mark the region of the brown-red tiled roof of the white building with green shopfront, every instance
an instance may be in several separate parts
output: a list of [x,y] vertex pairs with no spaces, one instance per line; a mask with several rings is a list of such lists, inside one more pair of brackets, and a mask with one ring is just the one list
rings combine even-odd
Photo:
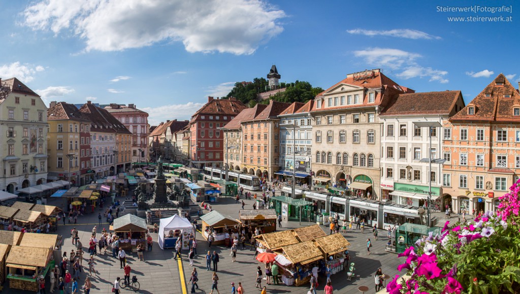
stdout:
[[404,93],[381,112],[384,115],[449,114],[462,96],[460,90],[440,92]]

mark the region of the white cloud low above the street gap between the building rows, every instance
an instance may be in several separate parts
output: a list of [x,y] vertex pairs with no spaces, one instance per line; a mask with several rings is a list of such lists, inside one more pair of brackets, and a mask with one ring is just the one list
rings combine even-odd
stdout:
[[161,122],[166,122],[168,119],[177,118],[179,121],[190,119],[191,115],[198,111],[204,103],[188,102],[186,104],[172,104],[158,107],[141,108],[142,111],[148,112],[148,123],[152,126],[157,126]]

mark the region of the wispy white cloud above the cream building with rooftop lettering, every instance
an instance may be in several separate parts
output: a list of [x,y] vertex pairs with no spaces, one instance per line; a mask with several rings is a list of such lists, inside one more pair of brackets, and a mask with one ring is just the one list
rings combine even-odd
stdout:
[[424,77],[429,78],[430,82],[437,81],[443,84],[449,82],[445,78],[447,71],[419,65],[416,60],[422,56],[417,53],[392,48],[368,48],[354,51],[354,56],[364,59],[369,65],[398,71],[397,76],[403,79]]

